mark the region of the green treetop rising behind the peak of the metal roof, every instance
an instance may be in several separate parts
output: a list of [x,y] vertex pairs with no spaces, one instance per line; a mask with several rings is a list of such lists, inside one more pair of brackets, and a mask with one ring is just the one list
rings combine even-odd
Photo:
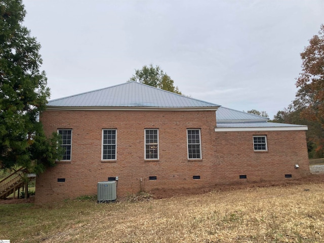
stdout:
[[174,86],[171,77],[159,66],[153,67],[152,64],[145,65],[142,69],[135,69],[135,74],[128,80],[128,82],[131,81],[182,95],[178,87]]

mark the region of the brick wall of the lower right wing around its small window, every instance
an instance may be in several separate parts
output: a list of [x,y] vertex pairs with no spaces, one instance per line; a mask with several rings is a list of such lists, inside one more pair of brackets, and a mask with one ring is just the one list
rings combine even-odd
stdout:
[[[253,151],[253,135],[267,136],[268,151]],[[309,174],[305,131],[218,132],[215,149],[218,182],[283,180],[288,174],[292,178]]]

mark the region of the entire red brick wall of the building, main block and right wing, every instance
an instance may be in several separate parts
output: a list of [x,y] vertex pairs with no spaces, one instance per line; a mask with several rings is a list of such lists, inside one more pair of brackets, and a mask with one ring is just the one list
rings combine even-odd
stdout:
[[[72,129],[72,158],[37,177],[36,204],[96,194],[97,182],[116,176],[117,196],[123,196],[141,186],[146,191],[200,187],[239,181],[239,175],[247,175],[244,180],[270,180],[309,172],[304,131],[216,133],[215,111],[47,110],[41,121],[48,135]],[[188,128],[200,129],[201,160],[187,159]],[[114,162],[101,160],[102,129],[117,130]],[[144,129],[158,129],[158,161],[144,159]],[[258,134],[267,135],[268,152],[253,151],[252,136]],[[192,179],[196,175],[200,180]]]

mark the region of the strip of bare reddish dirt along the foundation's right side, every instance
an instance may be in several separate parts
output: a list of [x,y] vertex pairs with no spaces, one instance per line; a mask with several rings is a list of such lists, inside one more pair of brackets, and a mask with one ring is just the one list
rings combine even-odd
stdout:
[[258,181],[258,182],[240,182],[231,184],[217,184],[214,186],[206,186],[200,188],[181,188],[181,189],[160,189],[156,188],[149,193],[153,195],[155,199],[171,198],[175,196],[188,196],[204,194],[211,191],[231,191],[239,189],[252,189],[257,187],[272,187],[272,186],[291,186],[291,185],[307,185],[324,183],[324,174],[310,174],[307,177],[299,179],[289,179],[281,181]]

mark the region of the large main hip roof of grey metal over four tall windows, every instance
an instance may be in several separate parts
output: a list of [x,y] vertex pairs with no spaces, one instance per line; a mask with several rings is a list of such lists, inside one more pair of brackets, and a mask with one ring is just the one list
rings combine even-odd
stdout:
[[114,108],[191,108],[217,110],[219,105],[193,99],[137,82],[50,100],[49,108],[114,107]]

